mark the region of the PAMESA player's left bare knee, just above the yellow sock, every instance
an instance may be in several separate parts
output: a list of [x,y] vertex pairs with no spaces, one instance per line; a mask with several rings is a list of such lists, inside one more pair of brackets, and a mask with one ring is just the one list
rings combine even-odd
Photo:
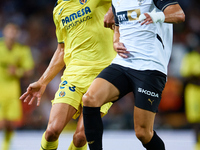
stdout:
[[56,141],[59,135],[60,133],[58,132],[58,130],[54,128],[47,128],[46,133],[45,133],[45,137],[48,142]]

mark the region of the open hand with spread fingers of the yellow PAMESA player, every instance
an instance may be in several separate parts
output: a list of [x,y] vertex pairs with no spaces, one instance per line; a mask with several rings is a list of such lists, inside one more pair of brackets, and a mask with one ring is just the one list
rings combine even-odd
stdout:
[[26,92],[20,97],[20,100],[28,102],[29,105],[32,105],[33,101],[37,99],[37,106],[39,106],[45,89],[46,85],[34,82],[28,86]]

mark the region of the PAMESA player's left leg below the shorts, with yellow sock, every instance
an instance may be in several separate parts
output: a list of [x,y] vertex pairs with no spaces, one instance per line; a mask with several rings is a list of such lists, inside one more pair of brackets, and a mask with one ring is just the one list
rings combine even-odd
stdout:
[[58,137],[76,111],[74,107],[66,103],[53,104],[47,129],[42,136],[40,150],[57,149]]

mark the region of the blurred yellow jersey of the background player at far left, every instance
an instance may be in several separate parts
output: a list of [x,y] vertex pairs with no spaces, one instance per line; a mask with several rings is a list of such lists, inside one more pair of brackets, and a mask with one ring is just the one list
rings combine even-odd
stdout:
[[[19,77],[9,74],[9,65],[16,66],[20,74],[33,68],[34,61],[30,48],[15,43],[11,50],[0,39],[0,101],[19,99],[21,94]],[[9,98],[9,99],[8,99]]]

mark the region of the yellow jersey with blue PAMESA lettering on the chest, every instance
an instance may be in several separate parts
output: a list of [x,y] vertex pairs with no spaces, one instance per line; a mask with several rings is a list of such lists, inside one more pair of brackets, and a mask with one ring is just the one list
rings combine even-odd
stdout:
[[65,44],[63,77],[74,76],[73,84],[84,84],[80,80],[100,73],[116,56],[113,31],[103,25],[110,6],[111,0],[57,1],[53,18],[58,43]]

